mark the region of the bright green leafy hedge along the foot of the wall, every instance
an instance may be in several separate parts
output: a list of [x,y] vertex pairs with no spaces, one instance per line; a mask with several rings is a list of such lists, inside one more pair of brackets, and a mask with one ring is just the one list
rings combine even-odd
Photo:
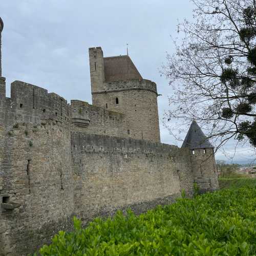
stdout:
[[41,255],[255,255],[256,188],[223,189],[60,231]]

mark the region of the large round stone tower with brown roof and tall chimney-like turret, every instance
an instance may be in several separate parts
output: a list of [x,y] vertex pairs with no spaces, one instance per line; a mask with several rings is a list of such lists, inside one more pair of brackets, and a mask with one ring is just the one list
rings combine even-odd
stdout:
[[156,83],[143,79],[128,55],[103,57],[89,48],[93,104],[126,116],[127,137],[160,142]]

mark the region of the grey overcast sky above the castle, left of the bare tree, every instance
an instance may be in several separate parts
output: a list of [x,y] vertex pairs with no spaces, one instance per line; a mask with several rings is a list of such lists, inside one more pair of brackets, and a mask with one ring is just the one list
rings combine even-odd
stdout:
[[[60,96],[91,103],[88,48],[101,46],[104,56],[129,55],[145,79],[157,83],[161,141],[174,140],[161,119],[172,93],[159,69],[166,52],[174,53],[178,20],[193,18],[189,0],[1,0],[3,76],[21,80]],[[185,136],[185,135],[184,135]],[[226,152],[232,156],[234,143]],[[234,162],[249,159],[247,147],[238,148]],[[217,153],[218,159],[226,159]]]

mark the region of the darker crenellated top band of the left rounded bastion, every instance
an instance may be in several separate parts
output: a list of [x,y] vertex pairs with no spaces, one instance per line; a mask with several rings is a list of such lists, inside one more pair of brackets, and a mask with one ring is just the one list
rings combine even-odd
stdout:
[[0,78],[0,122],[40,123],[41,119],[70,122],[70,104],[55,93],[22,81],[11,83],[11,97],[5,96],[5,78]]

